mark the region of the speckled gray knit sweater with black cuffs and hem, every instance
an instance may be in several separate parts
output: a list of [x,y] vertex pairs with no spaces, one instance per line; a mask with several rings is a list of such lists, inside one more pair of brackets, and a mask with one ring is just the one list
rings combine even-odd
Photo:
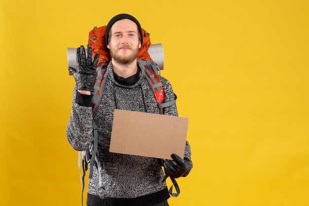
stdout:
[[[124,86],[115,81],[112,63],[107,68],[107,82],[94,117],[98,127],[99,159],[104,161],[101,175],[106,198],[99,198],[103,191],[98,187],[98,174],[94,170],[93,178],[88,182],[89,206],[152,206],[169,198],[166,183],[162,182],[164,174],[156,158],[109,152],[114,109],[159,114],[153,91],[145,78],[145,68],[139,63],[138,67],[139,79],[132,86]],[[169,81],[161,76],[159,78],[163,84],[165,102],[174,100]],[[69,143],[78,151],[86,150],[93,141],[92,107],[89,103],[91,96],[86,96],[80,95],[75,87],[67,127]],[[163,113],[178,116],[176,104],[165,107]],[[188,141],[185,158],[191,161]]]

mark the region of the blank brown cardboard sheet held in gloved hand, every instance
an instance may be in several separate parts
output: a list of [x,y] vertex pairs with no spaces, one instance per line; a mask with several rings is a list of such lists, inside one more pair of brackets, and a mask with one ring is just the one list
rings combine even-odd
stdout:
[[115,109],[110,152],[184,158],[189,118]]

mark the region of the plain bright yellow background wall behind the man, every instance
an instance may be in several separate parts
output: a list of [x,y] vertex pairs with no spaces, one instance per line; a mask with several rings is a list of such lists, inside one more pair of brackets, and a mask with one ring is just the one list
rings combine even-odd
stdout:
[[67,47],[119,13],[162,43],[193,171],[170,206],[309,205],[308,0],[1,0],[0,205],[77,206]]

